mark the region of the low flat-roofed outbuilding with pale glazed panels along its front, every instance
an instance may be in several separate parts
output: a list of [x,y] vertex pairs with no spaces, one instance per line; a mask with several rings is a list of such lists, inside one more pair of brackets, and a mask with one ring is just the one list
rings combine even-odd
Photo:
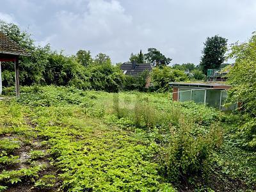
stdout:
[[207,104],[221,111],[234,110],[237,104],[228,107],[223,106],[227,99],[227,90],[230,88],[227,84],[218,83],[170,83],[173,88],[173,100],[180,102],[194,101]]

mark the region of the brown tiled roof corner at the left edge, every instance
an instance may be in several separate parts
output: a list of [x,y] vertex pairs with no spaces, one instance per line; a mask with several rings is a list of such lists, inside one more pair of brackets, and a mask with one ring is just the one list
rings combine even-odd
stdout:
[[19,47],[19,45],[11,40],[8,36],[0,32],[0,53],[27,56],[28,52]]

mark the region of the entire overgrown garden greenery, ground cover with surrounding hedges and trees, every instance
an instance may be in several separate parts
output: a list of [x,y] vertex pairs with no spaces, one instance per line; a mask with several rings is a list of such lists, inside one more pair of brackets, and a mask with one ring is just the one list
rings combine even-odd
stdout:
[[239,109],[220,112],[173,102],[168,84],[205,79],[214,42],[220,67],[220,36],[207,38],[200,66],[166,66],[172,59],[155,48],[132,54],[156,67],[131,77],[106,54],[65,56],[15,24],[0,21],[0,30],[31,54],[20,57],[18,98],[13,63],[1,63],[0,191],[256,190],[255,33],[232,45],[227,104]]

